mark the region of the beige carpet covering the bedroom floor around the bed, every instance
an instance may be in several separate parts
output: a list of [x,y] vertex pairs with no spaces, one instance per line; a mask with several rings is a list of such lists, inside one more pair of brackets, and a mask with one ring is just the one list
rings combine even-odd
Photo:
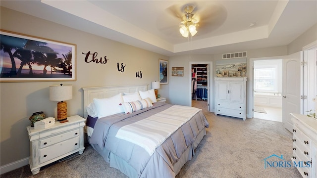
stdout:
[[[283,123],[262,119],[214,116],[204,111],[210,127],[193,159],[176,178],[301,178],[296,168],[266,168],[264,158],[292,157],[292,134]],[[45,166],[32,175],[29,166],[3,174],[1,178],[126,178],[103,160],[91,146],[82,155]]]

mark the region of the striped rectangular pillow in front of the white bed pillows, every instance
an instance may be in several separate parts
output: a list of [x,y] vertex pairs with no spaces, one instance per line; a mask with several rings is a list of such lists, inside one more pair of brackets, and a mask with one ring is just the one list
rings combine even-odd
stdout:
[[129,114],[141,109],[153,106],[150,98],[145,98],[142,100],[124,102],[122,104],[125,114]]

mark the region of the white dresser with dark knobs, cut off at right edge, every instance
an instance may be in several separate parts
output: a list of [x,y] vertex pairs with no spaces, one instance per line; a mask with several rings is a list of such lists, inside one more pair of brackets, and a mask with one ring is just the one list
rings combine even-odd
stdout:
[[317,121],[293,114],[293,157],[292,162],[303,178],[317,178]]

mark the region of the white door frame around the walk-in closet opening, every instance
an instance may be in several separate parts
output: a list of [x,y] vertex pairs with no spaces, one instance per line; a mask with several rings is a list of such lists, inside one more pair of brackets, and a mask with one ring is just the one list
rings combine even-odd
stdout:
[[[209,112],[213,112],[213,107],[212,107],[212,61],[190,61],[189,62],[189,91],[192,91],[192,64],[208,64],[208,104],[209,104]],[[192,93],[189,93],[189,106],[192,106]]]

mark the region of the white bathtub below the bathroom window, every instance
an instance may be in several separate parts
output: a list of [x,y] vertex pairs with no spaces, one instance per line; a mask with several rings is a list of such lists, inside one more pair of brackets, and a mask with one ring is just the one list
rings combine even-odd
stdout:
[[274,95],[274,93],[256,92],[254,94],[254,105],[282,107],[282,95]]

